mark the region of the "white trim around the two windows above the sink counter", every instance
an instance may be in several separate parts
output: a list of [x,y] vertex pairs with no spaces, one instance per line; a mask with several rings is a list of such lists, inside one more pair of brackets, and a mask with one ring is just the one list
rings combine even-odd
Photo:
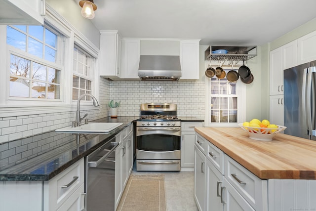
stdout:
[[[8,50],[7,48],[0,49],[0,70],[5,70],[5,77],[0,77],[0,118],[2,117],[12,117],[20,115],[32,115],[32,114],[46,114],[46,113],[56,113],[56,112],[70,112],[77,110],[77,100],[73,101],[71,98],[72,94],[72,76],[73,76],[73,48],[74,42],[81,46],[84,50],[90,53],[96,58],[94,67],[94,85],[91,89],[93,95],[99,99],[99,66],[98,66],[98,55],[99,48],[96,47],[92,42],[90,42],[84,35],[82,35],[76,28],[74,28],[68,21],[66,21],[62,16],[60,16],[56,11],[54,11],[49,5],[46,5],[46,16],[45,22],[58,31],[60,31],[65,37],[66,41],[64,58],[65,65],[64,69],[68,71],[64,74],[61,79],[61,86],[64,87],[62,90],[60,101],[50,101],[50,102],[40,102],[40,106],[26,105],[25,103],[9,103],[7,99],[8,93],[8,79],[9,71],[7,65],[9,65],[8,60]],[[7,46],[6,44],[6,25],[0,25],[0,46]],[[71,71],[69,71],[71,70]],[[3,72],[0,72],[3,74]],[[67,86],[66,86],[67,85]],[[5,90],[5,91],[3,91]],[[12,100],[11,100],[12,102]],[[80,110],[99,110],[100,107],[94,107],[90,102],[80,103]]]

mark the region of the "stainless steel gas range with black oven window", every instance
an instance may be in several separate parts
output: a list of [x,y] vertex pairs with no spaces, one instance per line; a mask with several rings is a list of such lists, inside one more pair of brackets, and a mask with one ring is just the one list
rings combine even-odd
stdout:
[[177,105],[146,103],[136,122],[136,169],[179,171],[181,167],[181,122]]

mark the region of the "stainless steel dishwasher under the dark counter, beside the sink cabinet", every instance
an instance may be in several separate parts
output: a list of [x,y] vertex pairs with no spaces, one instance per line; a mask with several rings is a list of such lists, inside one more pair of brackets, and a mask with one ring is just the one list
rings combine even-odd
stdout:
[[115,137],[86,157],[87,211],[115,210]]

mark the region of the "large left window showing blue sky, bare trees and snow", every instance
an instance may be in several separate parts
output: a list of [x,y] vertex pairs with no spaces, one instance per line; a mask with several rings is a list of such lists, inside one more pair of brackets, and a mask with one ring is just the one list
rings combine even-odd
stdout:
[[60,99],[62,66],[57,64],[60,35],[45,26],[7,26],[10,54],[9,97]]

